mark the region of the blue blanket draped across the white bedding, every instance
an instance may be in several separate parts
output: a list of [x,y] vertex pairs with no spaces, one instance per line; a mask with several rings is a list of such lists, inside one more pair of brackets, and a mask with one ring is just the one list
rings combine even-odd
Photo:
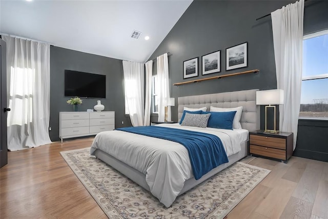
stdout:
[[213,134],[158,126],[127,127],[116,130],[162,138],[185,146],[196,180],[213,168],[229,162],[220,138]]

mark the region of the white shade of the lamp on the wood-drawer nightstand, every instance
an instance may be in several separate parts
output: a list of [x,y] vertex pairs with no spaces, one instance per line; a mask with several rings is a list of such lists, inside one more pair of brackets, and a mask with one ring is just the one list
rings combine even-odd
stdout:
[[260,90],[256,91],[256,105],[283,104],[283,90]]

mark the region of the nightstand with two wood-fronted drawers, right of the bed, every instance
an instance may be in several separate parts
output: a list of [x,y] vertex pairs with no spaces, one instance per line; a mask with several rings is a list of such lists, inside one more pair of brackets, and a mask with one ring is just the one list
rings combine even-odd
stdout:
[[293,154],[293,133],[250,132],[250,154],[276,158],[287,163]]

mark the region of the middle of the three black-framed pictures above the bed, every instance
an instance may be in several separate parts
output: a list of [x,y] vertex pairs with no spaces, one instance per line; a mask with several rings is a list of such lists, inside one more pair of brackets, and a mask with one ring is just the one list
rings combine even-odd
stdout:
[[221,71],[221,50],[201,56],[201,74],[211,74]]

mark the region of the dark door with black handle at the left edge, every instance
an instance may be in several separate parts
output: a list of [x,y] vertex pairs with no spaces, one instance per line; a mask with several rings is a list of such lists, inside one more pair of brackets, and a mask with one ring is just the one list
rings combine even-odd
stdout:
[[0,39],[0,168],[8,163],[6,43]]

